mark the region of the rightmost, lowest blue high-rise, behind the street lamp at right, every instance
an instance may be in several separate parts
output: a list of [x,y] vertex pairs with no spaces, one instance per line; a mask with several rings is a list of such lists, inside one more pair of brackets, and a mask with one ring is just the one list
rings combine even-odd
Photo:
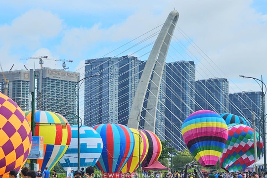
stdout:
[[[229,94],[229,111],[231,114],[242,116],[252,123],[252,111],[255,111],[255,119],[259,121],[262,118],[262,91],[237,92]],[[265,108],[265,107],[264,107]],[[256,128],[259,128],[259,122],[256,122]]]

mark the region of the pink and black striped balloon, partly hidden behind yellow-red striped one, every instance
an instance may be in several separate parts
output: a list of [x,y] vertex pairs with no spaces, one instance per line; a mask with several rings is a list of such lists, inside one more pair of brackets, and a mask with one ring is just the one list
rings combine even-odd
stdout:
[[151,166],[155,163],[161,154],[162,144],[159,137],[151,131],[143,130],[148,139],[148,152],[142,162],[142,167]]

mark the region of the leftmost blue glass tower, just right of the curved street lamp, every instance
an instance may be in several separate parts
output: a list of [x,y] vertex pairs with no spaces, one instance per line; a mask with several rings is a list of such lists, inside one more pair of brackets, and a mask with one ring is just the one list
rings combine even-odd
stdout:
[[118,58],[105,57],[86,60],[85,116],[84,125],[94,126],[105,123],[118,123]]

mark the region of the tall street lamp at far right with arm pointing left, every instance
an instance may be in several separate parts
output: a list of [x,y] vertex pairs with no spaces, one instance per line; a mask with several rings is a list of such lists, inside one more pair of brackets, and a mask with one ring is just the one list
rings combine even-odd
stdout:
[[[265,140],[265,114],[264,114],[264,96],[266,95],[266,91],[267,91],[267,87],[266,87],[266,85],[265,85],[265,83],[263,82],[263,76],[262,76],[262,80],[260,80],[260,79],[257,79],[257,78],[254,78],[254,77],[247,77],[247,76],[243,76],[243,75],[240,75],[239,77],[243,77],[243,78],[250,78],[250,79],[254,79],[258,84],[259,84],[259,82],[258,81],[260,81],[261,83],[262,83],[262,85],[260,85],[260,87],[261,87],[261,89],[262,89],[262,105],[263,105],[263,107],[262,107],[262,113],[263,113],[263,117],[262,117],[262,119],[263,119],[263,143],[264,143],[264,170],[266,171],[266,140]],[[265,92],[264,92],[264,89],[263,89],[263,86],[265,86]]]

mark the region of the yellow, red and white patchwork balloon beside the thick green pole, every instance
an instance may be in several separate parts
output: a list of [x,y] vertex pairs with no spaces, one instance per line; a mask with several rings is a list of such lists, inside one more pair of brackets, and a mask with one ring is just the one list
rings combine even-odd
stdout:
[[[31,121],[31,111],[25,114]],[[42,172],[45,167],[50,171],[69,147],[71,128],[63,116],[50,111],[36,111],[35,122],[35,135],[44,137],[44,159],[38,159],[37,163]]]

